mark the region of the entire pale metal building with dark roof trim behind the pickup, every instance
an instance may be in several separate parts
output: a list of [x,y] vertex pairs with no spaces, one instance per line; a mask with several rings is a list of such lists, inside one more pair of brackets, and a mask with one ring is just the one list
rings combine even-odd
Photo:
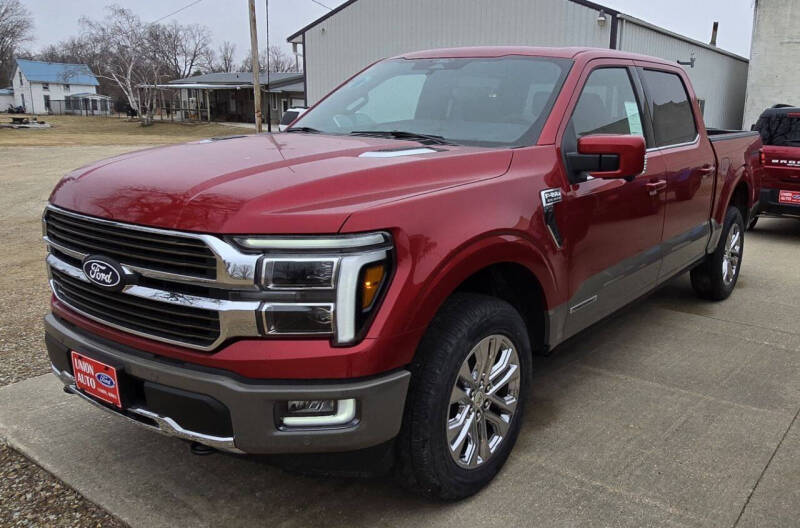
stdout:
[[706,124],[742,122],[745,57],[585,0],[349,0],[288,41],[302,45],[307,104],[370,63],[409,51],[594,46],[687,63]]

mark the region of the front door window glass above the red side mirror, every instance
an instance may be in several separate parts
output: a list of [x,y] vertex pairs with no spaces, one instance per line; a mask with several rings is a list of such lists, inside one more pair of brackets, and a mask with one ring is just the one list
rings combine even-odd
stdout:
[[594,70],[570,120],[575,136],[637,134],[642,131],[639,103],[626,68]]

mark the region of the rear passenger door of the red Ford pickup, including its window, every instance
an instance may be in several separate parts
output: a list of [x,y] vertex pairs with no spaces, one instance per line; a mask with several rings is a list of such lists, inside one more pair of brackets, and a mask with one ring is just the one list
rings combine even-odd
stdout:
[[638,68],[653,127],[653,146],[666,168],[666,216],[659,280],[682,271],[705,255],[711,234],[716,157],[711,142],[701,134],[685,74],[675,67]]

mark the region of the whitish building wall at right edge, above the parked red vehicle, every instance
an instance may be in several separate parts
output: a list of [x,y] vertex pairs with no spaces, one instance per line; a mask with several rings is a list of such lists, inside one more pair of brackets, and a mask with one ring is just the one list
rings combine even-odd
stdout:
[[775,104],[800,106],[800,2],[758,0],[744,128]]

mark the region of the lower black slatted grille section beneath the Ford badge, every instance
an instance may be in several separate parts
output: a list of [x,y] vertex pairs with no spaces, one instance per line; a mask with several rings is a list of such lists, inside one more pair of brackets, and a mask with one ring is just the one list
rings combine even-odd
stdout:
[[56,297],[80,313],[114,326],[198,347],[220,336],[219,312],[100,290],[53,268],[50,277]]

